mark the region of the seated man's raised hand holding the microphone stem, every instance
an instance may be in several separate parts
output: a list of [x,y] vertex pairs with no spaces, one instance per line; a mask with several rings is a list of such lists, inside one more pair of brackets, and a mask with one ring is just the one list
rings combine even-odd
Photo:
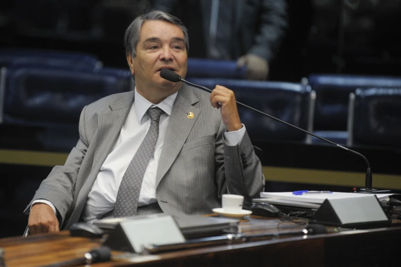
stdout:
[[210,94],[210,102],[213,107],[221,108],[221,118],[228,131],[236,131],[241,127],[237,103],[234,92],[224,86],[216,85]]

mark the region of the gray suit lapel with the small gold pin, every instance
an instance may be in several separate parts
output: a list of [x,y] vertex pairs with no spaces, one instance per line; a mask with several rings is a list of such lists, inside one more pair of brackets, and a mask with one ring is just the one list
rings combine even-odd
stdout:
[[[201,110],[193,104],[199,100],[193,94],[192,88],[183,84],[175,99],[170,121],[168,123],[166,137],[164,139],[162,153],[160,155],[157,172],[156,187],[163,176],[171,167],[175,158],[181,151],[187,137],[195,124]],[[188,118],[188,113],[193,113],[193,118]]]

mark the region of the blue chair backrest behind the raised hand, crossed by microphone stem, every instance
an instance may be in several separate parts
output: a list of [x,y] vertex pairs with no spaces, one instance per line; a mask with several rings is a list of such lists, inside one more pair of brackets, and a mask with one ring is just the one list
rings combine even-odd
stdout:
[[[230,88],[237,101],[306,129],[310,87],[308,85],[231,79],[190,78],[188,81],[213,90],[216,84]],[[252,140],[304,141],[305,133],[237,105],[241,122]]]

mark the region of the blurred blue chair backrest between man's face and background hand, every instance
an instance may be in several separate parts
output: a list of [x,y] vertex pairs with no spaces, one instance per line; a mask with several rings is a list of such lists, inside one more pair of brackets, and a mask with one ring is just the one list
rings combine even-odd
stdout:
[[244,79],[246,68],[237,68],[235,61],[188,58],[187,78]]

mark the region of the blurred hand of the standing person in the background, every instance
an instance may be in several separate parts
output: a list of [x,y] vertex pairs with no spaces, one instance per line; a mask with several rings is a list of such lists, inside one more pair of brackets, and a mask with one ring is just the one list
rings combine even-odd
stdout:
[[247,66],[247,79],[249,80],[266,80],[269,74],[269,63],[264,58],[257,55],[246,54],[238,58],[237,66]]

